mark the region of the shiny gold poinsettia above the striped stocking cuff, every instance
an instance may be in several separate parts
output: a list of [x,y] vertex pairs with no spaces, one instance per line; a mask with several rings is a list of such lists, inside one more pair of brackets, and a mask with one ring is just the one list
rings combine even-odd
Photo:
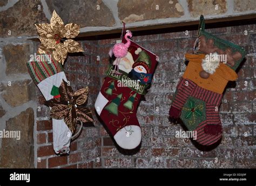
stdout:
[[[40,54],[52,53],[53,59],[61,62],[62,65],[68,53],[84,52],[79,43],[71,38],[77,37],[80,26],[69,23],[64,26],[62,19],[53,11],[50,24],[35,24],[41,45],[38,52]],[[62,43],[61,39],[66,38]]]

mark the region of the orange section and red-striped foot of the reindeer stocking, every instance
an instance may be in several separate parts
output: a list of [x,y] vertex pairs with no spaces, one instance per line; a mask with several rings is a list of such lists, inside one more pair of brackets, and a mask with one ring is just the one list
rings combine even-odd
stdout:
[[190,131],[196,131],[196,141],[212,145],[221,138],[219,105],[228,81],[237,79],[235,71],[218,63],[214,73],[203,78],[205,54],[186,54],[190,62],[181,77],[170,108],[170,117],[180,117]]

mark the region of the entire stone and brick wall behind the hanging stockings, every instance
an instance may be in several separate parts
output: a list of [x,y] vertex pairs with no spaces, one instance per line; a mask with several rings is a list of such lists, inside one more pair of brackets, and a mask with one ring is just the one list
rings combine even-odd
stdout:
[[[21,131],[21,140],[0,138],[0,167],[256,167],[253,161],[256,27],[253,24],[208,30],[244,46],[247,51],[246,61],[238,73],[239,80],[229,83],[225,91],[221,104],[224,137],[212,151],[200,151],[190,140],[174,138],[174,131],[181,127],[167,117],[177,80],[185,70],[184,53],[191,50],[196,30],[185,34],[187,27],[183,27],[177,32],[165,30],[150,34],[149,31],[133,37],[134,41],[160,57],[146,101],[142,101],[138,108],[143,142],[140,151],[133,156],[119,152],[95,114],[95,126],[83,128],[79,138],[71,143],[70,155],[57,156],[52,148],[49,108],[43,105],[44,98],[25,66],[39,45],[39,42],[29,40],[37,35],[34,24],[49,23],[53,9],[65,23],[80,24],[83,27],[81,32],[89,32],[122,27],[122,20],[127,26],[136,27],[198,20],[201,13],[206,18],[250,15],[255,13],[255,1],[159,0],[146,1],[144,5],[142,1],[122,0],[63,2],[0,2],[0,130]],[[156,10],[157,5],[159,10]],[[218,5],[217,10],[215,5]],[[79,42],[85,50],[83,55],[69,55],[65,62],[65,73],[72,88],[77,90],[89,86],[87,105],[92,111],[110,64],[107,53],[118,37],[82,38]],[[159,112],[156,112],[157,106]]]

